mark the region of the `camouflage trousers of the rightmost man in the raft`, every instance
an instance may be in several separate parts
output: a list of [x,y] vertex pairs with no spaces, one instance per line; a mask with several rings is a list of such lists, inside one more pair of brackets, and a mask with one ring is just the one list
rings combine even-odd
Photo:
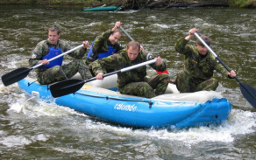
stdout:
[[209,80],[196,79],[184,70],[181,70],[177,73],[176,87],[181,93],[192,93],[202,90],[215,91],[218,87],[218,81],[215,78],[210,78]]

